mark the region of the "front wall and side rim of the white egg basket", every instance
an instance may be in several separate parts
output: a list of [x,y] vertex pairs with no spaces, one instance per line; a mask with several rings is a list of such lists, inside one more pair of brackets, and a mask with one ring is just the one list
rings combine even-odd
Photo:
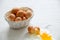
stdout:
[[31,18],[33,17],[33,14],[31,15],[31,17],[29,17],[28,19],[26,20],[23,20],[23,21],[19,21],[19,22],[14,22],[14,21],[10,21],[7,16],[9,14],[10,11],[8,11],[6,14],[5,14],[5,19],[6,21],[8,22],[10,28],[13,28],[13,29],[19,29],[19,28],[23,28],[23,27],[27,27],[30,23],[30,20]]

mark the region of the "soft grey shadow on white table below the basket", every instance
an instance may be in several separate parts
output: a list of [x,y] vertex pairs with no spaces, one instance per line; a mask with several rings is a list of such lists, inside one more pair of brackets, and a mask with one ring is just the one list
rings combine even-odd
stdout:
[[26,28],[20,29],[20,30],[13,30],[10,29],[8,32],[8,39],[7,40],[21,40],[23,37],[24,33],[26,31]]

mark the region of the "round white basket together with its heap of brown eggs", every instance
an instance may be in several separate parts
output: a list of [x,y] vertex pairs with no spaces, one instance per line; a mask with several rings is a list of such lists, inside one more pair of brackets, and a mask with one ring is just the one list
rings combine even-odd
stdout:
[[27,27],[33,17],[33,10],[28,7],[13,8],[5,14],[10,28],[20,29]]

